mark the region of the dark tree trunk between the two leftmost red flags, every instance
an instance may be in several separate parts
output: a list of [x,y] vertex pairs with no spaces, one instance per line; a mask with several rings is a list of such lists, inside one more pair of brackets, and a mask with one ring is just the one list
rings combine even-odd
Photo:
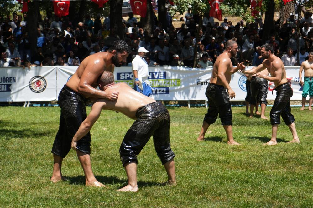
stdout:
[[29,2],[26,30],[28,33],[31,57],[34,57],[36,55],[38,14],[39,14],[39,1]]

